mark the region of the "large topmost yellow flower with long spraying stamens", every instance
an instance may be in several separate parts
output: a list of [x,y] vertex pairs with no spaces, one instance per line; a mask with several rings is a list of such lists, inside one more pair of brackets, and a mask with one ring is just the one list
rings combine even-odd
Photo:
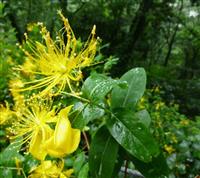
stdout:
[[[37,76],[33,81],[24,82],[20,91],[42,89],[40,96],[47,95],[57,87],[59,94],[67,85],[73,91],[71,82],[82,79],[81,69],[90,66],[93,62],[97,39],[95,38],[94,26],[88,41],[81,51],[77,51],[77,40],[69,25],[68,20],[59,11],[64,22],[64,31],[58,34],[53,41],[47,29],[41,25],[41,34],[45,44],[27,39],[26,43],[32,53],[25,51],[27,55],[24,65],[20,66],[22,72]],[[67,43],[64,42],[63,34],[66,33]],[[38,78],[39,77],[39,78]]]

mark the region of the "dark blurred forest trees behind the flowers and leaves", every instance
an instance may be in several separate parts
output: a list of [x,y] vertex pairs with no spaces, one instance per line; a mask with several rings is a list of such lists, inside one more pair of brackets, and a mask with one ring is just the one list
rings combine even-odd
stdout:
[[54,36],[55,29],[62,27],[56,16],[57,10],[62,9],[76,36],[84,40],[96,24],[102,44],[109,43],[102,53],[107,57],[113,54],[119,57],[111,72],[113,76],[121,76],[132,67],[143,66],[149,71],[150,85],[167,83],[169,87],[166,90],[172,88],[170,95],[179,93],[174,81],[185,82],[200,77],[200,3],[197,0],[2,2],[5,4],[3,11],[19,42],[23,41],[27,25],[38,21],[44,22]]

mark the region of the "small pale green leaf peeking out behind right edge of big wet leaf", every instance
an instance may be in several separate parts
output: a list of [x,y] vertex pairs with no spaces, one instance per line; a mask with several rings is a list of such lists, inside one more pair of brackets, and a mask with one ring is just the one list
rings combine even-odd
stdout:
[[138,120],[146,126],[146,128],[149,128],[151,123],[151,117],[146,109],[138,111],[135,113],[135,117],[138,118]]

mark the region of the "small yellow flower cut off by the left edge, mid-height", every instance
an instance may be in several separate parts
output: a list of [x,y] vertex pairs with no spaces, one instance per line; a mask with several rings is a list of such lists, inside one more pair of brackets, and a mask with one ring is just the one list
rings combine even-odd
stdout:
[[6,123],[13,115],[13,112],[9,109],[9,105],[6,102],[6,107],[0,104],[0,125]]

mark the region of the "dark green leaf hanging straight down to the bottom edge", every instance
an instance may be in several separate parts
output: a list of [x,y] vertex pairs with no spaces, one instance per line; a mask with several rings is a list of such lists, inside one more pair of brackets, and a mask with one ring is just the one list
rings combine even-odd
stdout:
[[111,178],[117,159],[118,144],[105,127],[95,134],[89,152],[89,167],[93,178]]

